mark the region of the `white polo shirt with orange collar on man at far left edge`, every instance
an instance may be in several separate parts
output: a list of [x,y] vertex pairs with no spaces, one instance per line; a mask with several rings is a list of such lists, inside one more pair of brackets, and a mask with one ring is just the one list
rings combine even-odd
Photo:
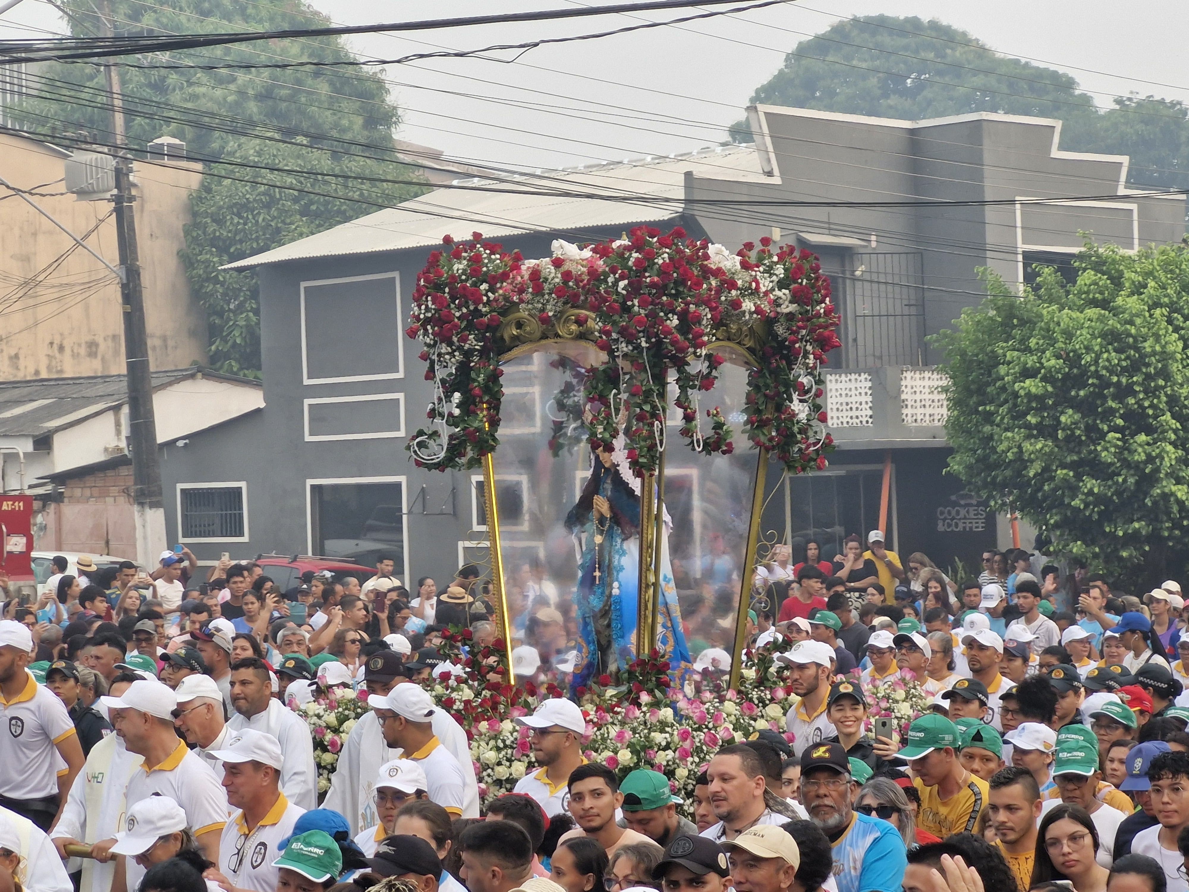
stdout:
[[0,696],[0,796],[44,799],[58,792],[57,745],[76,731],[62,701],[27,672],[25,679],[11,703]]

